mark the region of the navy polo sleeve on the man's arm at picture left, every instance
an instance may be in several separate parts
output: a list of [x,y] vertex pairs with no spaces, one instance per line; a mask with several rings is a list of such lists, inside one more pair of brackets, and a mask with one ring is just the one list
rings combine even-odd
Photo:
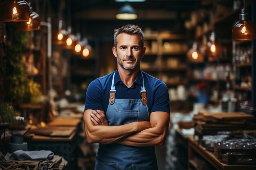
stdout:
[[98,79],[92,81],[86,91],[85,110],[103,110],[102,88]]

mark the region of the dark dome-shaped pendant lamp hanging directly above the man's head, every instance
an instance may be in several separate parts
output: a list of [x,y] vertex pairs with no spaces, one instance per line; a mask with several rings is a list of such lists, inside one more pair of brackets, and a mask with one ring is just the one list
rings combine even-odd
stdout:
[[116,15],[118,20],[135,20],[137,17],[135,9],[128,3],[124,4]]

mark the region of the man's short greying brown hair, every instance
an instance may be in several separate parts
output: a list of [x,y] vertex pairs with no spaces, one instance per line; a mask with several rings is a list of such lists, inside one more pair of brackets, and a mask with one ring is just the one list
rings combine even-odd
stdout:
[[117,36],[120,33],[126,33],[129,35],[135,35],[135,34],[139,35],[140,39],[141,39],[141,49],[143,48],[144,34],[139,26],[128,24],[128,25],[124,25],[124,26],[120,27],[119,29],[115,29],[114,30],[114,45],[115,45],[115,47],[117,47]]

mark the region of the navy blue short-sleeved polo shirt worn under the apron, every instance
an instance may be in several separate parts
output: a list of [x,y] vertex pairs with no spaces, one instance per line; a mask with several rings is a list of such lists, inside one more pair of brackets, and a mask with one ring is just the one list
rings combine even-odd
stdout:
[[[112,72],[103,77],[97,78],[92,81],[86,92],[85,99],[85,110],[103,110],[105,113],[109,104],[109,96],[112,83],[112,77],[115,72]],[[132,84],[130,88],[121,81],[118,70],[114,77],[114,86],[116,90],[116,99],[140,99],[141,98],[141,86],[143,85],[142,75],[144,78],[145,90],[147,91],[147,105],[148,112],[163,111],[170,113],[169,106],[169,95],[168,88],[162,82],[151,75],[143,71],[139,71],[136,81]]]

